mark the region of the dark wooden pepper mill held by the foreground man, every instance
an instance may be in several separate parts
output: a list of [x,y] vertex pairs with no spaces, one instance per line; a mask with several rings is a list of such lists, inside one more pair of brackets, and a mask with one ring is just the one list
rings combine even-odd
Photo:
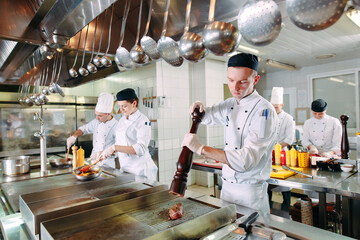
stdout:
[[[190,133],[196,133],[204,114],[205,112],[200,112],[198,108],[195,108],[192,113],[193,123]],[[187,176],[192,166],[192,156],[193,152],[188,147],[184,146],[178,159],[177,170],[169,190],[170,193],[184,196],[187,186]]]

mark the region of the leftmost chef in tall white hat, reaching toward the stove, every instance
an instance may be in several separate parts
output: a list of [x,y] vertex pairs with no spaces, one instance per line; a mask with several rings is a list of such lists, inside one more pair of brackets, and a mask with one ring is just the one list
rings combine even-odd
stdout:
[[[81,126],[66,141],[70,148],[76,139],[85,134],[93,134],[93,149],[89,160],[94,162],[100,158],[101,152],[115,143],[115,128],[117,121],[111,115],[113,109],[114,97],[110,93],[100,93],[96,107],[96,118],[89,123]],[[109,157],[99,162],[98,165],[115,168],[115,158]]]

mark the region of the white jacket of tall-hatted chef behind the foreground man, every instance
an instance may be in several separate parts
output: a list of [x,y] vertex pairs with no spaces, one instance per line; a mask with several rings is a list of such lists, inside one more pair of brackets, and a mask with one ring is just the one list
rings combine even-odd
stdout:
[[278,115],[278,124],[276,125],[276,140],[279,143],[286,142],[291,145],[295,138],[295,121],[294,118],[281,111]]

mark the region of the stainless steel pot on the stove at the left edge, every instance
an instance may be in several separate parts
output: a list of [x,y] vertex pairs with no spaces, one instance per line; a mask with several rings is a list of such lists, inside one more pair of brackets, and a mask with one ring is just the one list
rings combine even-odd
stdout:
[[1,159],[4,175],[13,176],[30,172],[30,157],[17,156]]

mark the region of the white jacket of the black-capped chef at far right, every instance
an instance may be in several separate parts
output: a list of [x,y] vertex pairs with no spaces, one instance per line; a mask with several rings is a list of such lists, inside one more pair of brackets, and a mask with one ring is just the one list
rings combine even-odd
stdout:
[[313,144],[319,153],[334,151],[339,155],[341,134],[340,121],[325,114],[322,119],[312,117],[305,121],[301,142],[306,147]]

